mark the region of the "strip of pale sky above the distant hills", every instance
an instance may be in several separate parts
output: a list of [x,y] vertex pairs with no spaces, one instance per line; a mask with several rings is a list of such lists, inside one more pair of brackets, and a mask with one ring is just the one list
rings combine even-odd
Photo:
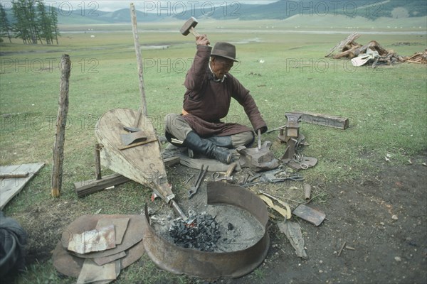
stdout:
[[[61,8],[65,11],[116,11],[119,9],[129,8],[130,4],[135,4],[139,11],[147,10],[156,13],[158,9],[201,9],[210,6],[230,6],[238,4],[270,4],[278,0],[135,0],[135,1],[111,1],[111,0],[44,0],[46,6]],[[1,0],[1,4],[6,7],[11,6],[11,0]]]

